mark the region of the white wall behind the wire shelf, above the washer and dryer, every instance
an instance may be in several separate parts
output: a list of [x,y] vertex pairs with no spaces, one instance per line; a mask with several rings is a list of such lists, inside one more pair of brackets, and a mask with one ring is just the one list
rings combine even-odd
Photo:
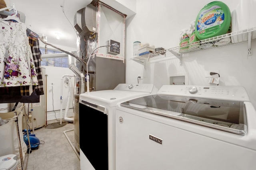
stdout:
[[[182,65],[179,59],[153,60],[144,65],[131,60],[133,42],[148,42],[170,49],[179,46],[180,30],[190,29],[199,11],[211,0],[137,0],[136,15],[126,20],[126,83],[153,83],[159,89],[170,84],[169,77],[186,75],[188,85],[210,85],[206,72],[218,70],[219,85],[244,86],[256,107],[256,90],[253,85],[256,73],[256,42],[252,41],[252,56],[247,57],[247,43],[185,54]],[[232,12],[240,0],[222,0]]]

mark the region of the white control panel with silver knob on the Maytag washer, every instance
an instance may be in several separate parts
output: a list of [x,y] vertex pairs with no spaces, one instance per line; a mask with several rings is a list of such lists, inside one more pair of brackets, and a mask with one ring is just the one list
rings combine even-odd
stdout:
[[157,94],[250,102],[243,86],[164,85]]

